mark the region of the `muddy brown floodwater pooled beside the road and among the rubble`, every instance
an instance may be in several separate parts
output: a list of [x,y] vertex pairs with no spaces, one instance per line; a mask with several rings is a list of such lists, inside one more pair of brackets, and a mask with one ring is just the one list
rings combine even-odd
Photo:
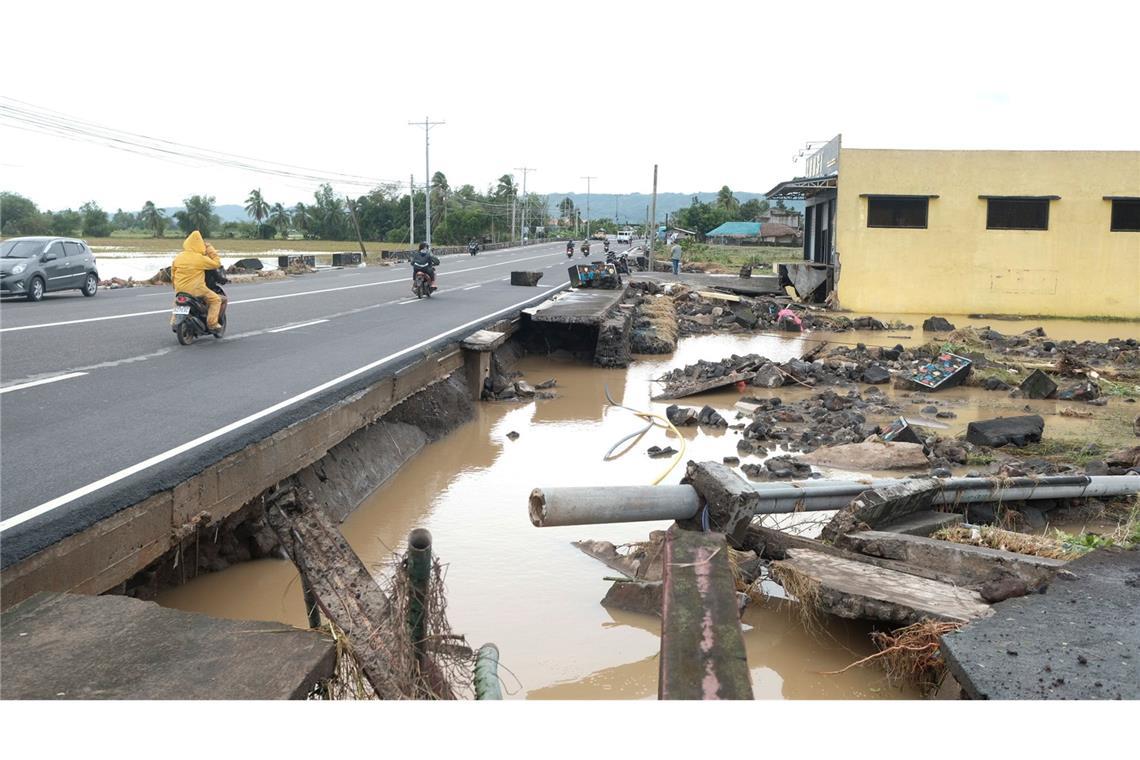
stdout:
[[[893,316],[887,314],[886,318]],[[902,317],[909,324],[921,318]],[[952,319],[962,324],[985,320]],[[990,322],[1004,333],[1042,325],[1051,336],[1068,337],[1073,320]],[[1129,337],[1135,325],[1080,322],[1073,337]],[[909,336],[902,341],[895,335]],[[670,357],[641,357],[628,370],[529,357],[518,369],[536,384],[557,379],[557,398],[529,403],[482,403],[475,418],[426,447],[414,460],[377,489],[342,525],[369,567],[380,569],[392,551],[402,550],[408,531],[426,528],[434,551],[448,564],[448,618],[453,630],[478,646],[494,641],[502,652],[504,690],[508,697],[597,700],[652,698],[657,695],[660,621],[657,618],[608,611],[600,604],[613,574],[570,545],[577,539],[613,544],[644,540],[667,523],[640,523],[537,529],[527,516],[527,497],[535,487],[650,483],[667,459],[650,459],[650,446],[671,444],[671,434],[653,430],[628,453],[612,461],[602,457],[627,433],[642,427],[629,411],[606,407],[603,389],[614,400],[662,412],[668,403],[649,401],[650,381],[674,367],[731,353],[762,353],[776,360],[800,356],[808,342],[831,337],[842,342],[919,344],[921,330],[844,333],[833,336],[705,336],[681,342]],[[806,392],[806,391],[804,391]],[[749,389],[760,395],[772,392]],[[775,394],[792,398],[783,387]],[[887,390],[887,393],[891,393]],[[736,392],[709,393],[687,400],[710,403],[727,418],[734,416]],[[955,389],[937,394],[959,415],[948,432],[964,430],[978,416],[1010,404],[1000,393]],[[899,399],[904,404],[909,399]],[[1080,435],[1088,420],[1058,417],[1057,402],[1029,402],[1047,417],[1047,431],[1064,424]],[[1064,422],[1061,422],[1064,420]],[[508,432],[518,432],[514,441]],[[684,459],[716,459],[735,455],[736,433],[686,428]],[[773,455],[779,451],[773,451]],[[746,459],[747,460],[747,459]],[[754,458],[759,461],[759,458]],[[829,471],[823,469],[824,473]],[[676,483],[683,464],[669,473]],[[258,561],[204,575],[166,591],[160,603],[223,618],[275,620],[306,626],[298,574],[285,561]],[[813,638],[790,605],[776,602],[750,607],[743,619],[752,686],[759,698],[913,698],[917,690],[888,685],[878,669],[834,671],[871,652],[870,628],[831,621]]]

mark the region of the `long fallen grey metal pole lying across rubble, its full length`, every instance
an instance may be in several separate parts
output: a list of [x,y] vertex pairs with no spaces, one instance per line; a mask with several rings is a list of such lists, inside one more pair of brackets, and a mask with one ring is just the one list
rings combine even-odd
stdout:
[[[899,482],[799,481],[751,485],[760,500],[758,515],[841,509],[871,489]],[[1033,499],[1082,499],[1140,493],[1140,475],[1048,475],[1043,477],[926,479],[939,489],[934,504],[977,504]],[[691,520],[701,508],[692,485],[608,485],[536,488],[530,492],[530,522],[536,528],[594,525],[657,520]]]

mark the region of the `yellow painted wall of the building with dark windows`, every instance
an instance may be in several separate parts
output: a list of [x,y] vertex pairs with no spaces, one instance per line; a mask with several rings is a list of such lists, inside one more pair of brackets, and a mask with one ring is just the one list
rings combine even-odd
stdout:
[[[872,195],[937,195],[927,229],[866,226]],[[1059,195],[1048,230],[987,230],[979,195]],[[864,150],[839,158],[839,302],[865,312],[1140,318],[1140,152]]]

